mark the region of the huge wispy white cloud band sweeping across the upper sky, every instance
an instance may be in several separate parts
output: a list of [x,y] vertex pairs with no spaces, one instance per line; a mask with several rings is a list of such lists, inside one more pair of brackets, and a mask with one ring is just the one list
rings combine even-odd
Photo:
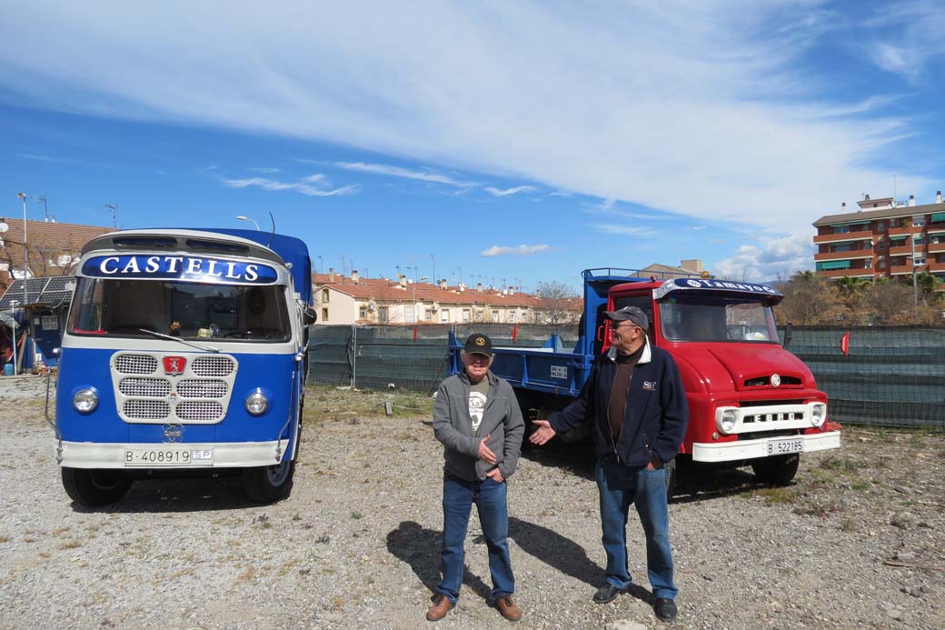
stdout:
[[[935,190],[923,176],[934,168],[887,150],[913,120],[843,114],[862,95],[844,103],[832,69],[807,64],[812,46],[833,42],[832,29],[861,10],[823,6],[277,3],[221,19],[182,0],[34,0],[4,12],[0,100],[316,140],[809,233],[822,208],[888,189],[890,172],[902,190]],[[905,9],[874,19],[929,22],[916,21],[897,48],[877,48],[876,62],[929,67],[945,45],[941,4],[895,7]],[[56,46],[36,44],[37,24]],[[339,167],[472,185],[435,171]]]

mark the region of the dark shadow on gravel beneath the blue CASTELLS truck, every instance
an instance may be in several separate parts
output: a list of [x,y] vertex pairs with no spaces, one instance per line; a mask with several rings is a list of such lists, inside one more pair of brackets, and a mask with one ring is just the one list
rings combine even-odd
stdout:
[[138,480],[131,484],[128,494],[115,503],[90,508],[73,502],[71,507],[80,514],[146,514],[214,512],[260,507],[260,504],[247,499],[239,476],[224,476]]

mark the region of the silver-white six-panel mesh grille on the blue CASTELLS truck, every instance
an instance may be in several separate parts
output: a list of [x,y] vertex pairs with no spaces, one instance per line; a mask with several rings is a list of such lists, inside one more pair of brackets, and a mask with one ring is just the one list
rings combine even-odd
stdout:
[[154,352],[121,352],[113,356],[115,408],[122,420],[189,424],[223,420],[239,367],[236,359],[226,355],[167,353],[186,361],[180,374],[170,375],[162,368],[164,356]]

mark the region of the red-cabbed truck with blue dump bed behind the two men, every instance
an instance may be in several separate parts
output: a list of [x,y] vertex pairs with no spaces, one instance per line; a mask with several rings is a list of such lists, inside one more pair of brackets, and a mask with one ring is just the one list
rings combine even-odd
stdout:
[[[807,366],[784,349],[772,307],[782,294],[767,285],[701,276],[656,280],[641,271],[583,272],[584,313],[574,350],[553,336],[542,348],[495,348],[492,371],[515,388],[525,417],[545,418],[580,392],[593,360],[610,347],[603,313],[639,306],[651,322],[650,343],[679,365],[689,428],[677,460],[750,465],[770,483],[786,484],[802,452],[838,448],[841,427],[828,420],[827,394]],[[790,326],[785,331],[789,341]],[[462,369],[451,340],[451,371]],[[586,437],[576,429],[561,439]],[[675,482],[671,466],[669,492]]]

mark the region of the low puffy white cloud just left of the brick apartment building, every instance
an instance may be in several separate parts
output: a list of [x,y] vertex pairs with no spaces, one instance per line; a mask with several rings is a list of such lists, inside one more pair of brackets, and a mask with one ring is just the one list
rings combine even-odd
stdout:
[[742,245],[710,271],[720,278],[746,281],[786,280],[796,271],[810,269],[814,261],[810,235],[762,238],[760,245]]

